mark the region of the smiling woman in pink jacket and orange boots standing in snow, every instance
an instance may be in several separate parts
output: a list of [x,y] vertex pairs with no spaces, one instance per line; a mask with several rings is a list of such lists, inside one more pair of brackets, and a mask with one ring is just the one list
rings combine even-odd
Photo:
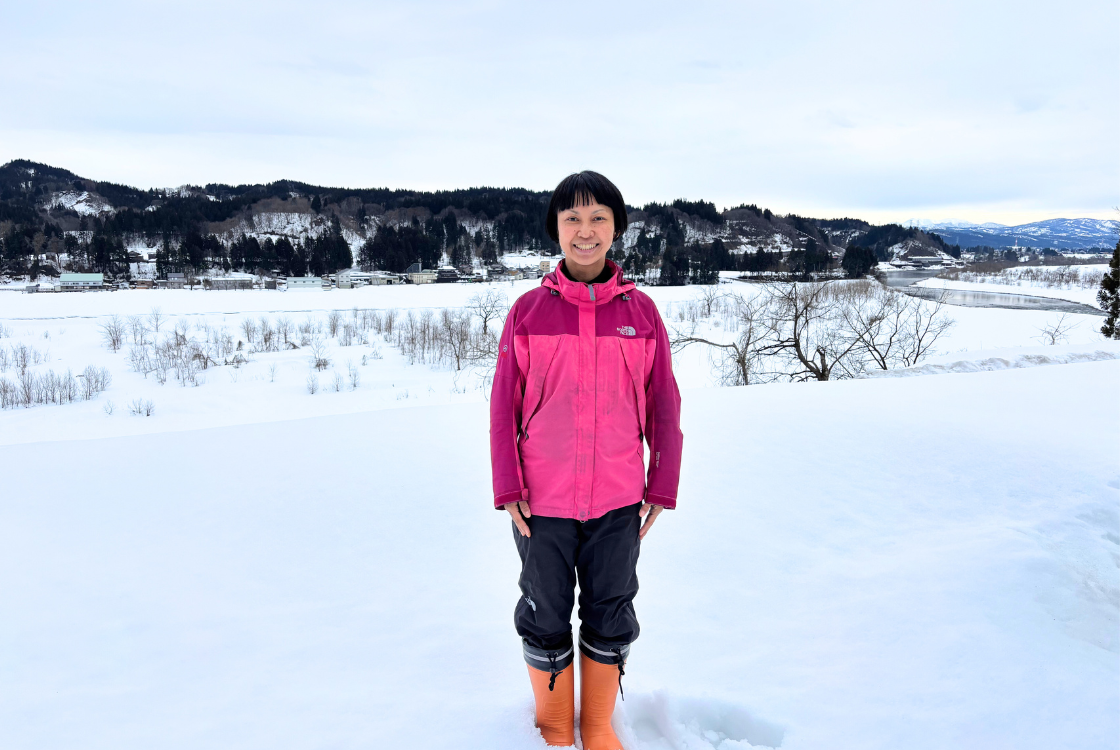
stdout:
[[656,307],[606,257],[626,229],[618,188],[597,172],[571,175],[552,193],[547,224],[564,257],[514,303],[498,347],[494,506],[513,517],[514,622],[541,734],[576,741],[578,580],[580,737],[585,750],[619,750],[610,716],[638,635],[635,566],[654,521],[676,505],[681,399]]

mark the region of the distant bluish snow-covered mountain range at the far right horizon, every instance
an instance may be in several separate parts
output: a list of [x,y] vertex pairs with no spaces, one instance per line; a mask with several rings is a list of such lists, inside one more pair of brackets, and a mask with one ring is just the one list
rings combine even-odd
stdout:
[[924,232],[936,232],[951,245],[962,249],[988,245],[1005,247],[1053,247],[1054,250],[1085,250],[1089,247],[1112,247],[1120,236],[1120,222],[1100,218],[1051,218],[1018,226],[1004,224],[973,224],[971,222],[927,222],[912,218],[903,226],[913,226]]

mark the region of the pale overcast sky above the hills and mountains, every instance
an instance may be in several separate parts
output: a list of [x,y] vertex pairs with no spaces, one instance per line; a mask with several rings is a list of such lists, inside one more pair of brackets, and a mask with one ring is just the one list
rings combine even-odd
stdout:
[[1117,0],[0,3],[0,162],[1118,218]]

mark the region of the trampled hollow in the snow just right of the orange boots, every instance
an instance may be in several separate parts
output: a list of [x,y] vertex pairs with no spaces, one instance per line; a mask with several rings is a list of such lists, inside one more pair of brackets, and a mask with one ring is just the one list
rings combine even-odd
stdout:
[[722,701],[664,691],[627,695],[615,707],[615,733],[626,750],[781,748],[785,729]]

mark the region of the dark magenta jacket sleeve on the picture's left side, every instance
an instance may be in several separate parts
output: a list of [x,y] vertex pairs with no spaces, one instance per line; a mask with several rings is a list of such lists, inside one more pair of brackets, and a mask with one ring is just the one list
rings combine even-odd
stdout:
[[495,508],[523,499],[522,490],[525,488],[517,448],[525,382],[517,366],[517,351],[513,340],[519,308],[514,302],[506,316],[491,388],[491,469],[494,475]]

